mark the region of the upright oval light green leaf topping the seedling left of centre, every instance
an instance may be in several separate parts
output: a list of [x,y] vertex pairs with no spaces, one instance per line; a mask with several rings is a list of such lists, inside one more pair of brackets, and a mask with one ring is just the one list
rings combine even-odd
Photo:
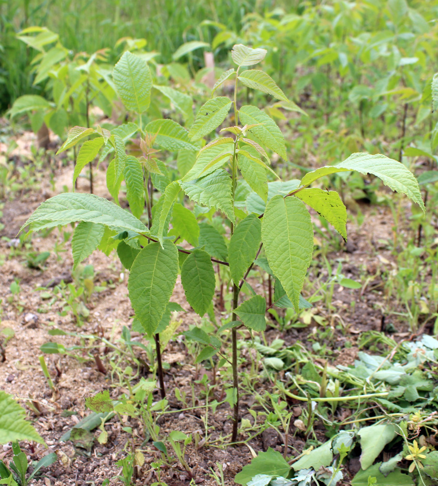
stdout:
[[143,113],[150,104],[152,77],[146,61],[125,52],[114,66],[113,80],[117,92],[128,110]]

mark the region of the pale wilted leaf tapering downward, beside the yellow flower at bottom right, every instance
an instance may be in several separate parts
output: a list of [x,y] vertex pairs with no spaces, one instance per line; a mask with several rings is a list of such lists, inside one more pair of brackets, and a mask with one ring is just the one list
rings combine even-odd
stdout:
[[362,449],[360,465],[362,469],[368,469],[384,447],[397,435],[397,428],[393,424],[370,425],[362,427],[357,434]]

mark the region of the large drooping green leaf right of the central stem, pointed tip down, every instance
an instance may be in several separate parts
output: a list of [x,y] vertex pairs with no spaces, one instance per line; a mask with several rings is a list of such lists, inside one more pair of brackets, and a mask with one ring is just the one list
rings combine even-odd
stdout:
[[304,204],[293,196],[274,196],[266,205],[261,240],[269,266],[295,312],[313,251],[313,228]]

